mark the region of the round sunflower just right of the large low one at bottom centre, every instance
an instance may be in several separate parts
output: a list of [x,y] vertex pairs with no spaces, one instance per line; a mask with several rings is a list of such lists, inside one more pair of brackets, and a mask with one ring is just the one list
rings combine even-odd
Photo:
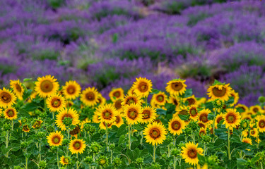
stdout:
[[170,122],[168,123],[168,130],[170,130],[170,133],[176,135],[176,134],[182,134],[182,130],[185,128],[185,123],[180,120],[179,118],[172,118]]

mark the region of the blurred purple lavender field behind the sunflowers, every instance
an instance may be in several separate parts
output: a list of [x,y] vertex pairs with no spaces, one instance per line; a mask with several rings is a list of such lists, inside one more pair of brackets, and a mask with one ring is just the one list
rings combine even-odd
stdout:
[[[228,82],[240,104],[265,84],[265,2],[225,0],[1,0],[0,86],[54,75],[108,98],[147,77],[165,91],[187,80],[197,97]],[[35,78],[35,79],[34,79]],[[29,84],[30,85],[30,84]]]

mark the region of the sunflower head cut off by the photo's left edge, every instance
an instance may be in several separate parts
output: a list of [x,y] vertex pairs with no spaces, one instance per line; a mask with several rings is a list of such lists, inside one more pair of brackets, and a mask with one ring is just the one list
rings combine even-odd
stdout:
[[0,107],[7,108],[15,104],[16,96],[9,89],[0,89]]

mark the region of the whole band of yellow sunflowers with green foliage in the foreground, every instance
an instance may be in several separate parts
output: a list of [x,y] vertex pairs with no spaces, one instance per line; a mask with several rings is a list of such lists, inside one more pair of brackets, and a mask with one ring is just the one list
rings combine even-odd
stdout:
[[196,98],[181,79],[162,92],[139,77],[107,100],[51,75],[11,80],[0,90],[2,168],[263,168],[265,98],[237,104],[217,80],[207,92]]

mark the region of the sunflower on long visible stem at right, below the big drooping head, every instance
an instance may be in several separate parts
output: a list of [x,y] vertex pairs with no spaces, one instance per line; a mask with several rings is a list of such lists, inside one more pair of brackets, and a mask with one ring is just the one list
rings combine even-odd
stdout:
[[230,130],[240,125],[241,115],[234,108],[227,108],[225,115],[223,115],[223,125]]

